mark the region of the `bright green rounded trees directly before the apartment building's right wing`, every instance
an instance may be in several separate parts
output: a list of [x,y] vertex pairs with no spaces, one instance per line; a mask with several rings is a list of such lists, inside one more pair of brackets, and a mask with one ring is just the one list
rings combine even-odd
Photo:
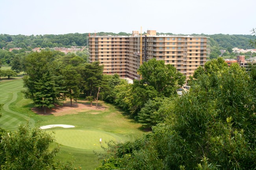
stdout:
[[121,83],[114,90],[115,104],[134,116],[137,116],[148,100],[177,96],[176,90],[186,79],[171,64],[165,65],[163,60],[155,58],[143,63],[138,72],[142,76],[141,80],[134,80],[133,84]]

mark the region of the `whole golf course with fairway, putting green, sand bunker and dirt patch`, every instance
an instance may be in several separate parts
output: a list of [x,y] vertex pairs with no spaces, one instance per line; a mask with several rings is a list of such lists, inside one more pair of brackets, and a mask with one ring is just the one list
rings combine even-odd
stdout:
[[[124,112],[114,105],[90,102],[78,99],[71,108],[69,100],[63,106],[47,110],[33,108],[30,99],[24,99],[22,94],[23,80],[21,77],[0,79],[0,103],[4,104],[0,118],[0,127],[15,131],[19,125],[28,123],[31,128],[40,128],[54,135],[56,143],[60,144],[61,152],[56,159],[71,161],[75,167],[93,170],[99,165],[98,158],[93,153],[104,152],[101,145],[113,140],[118,142],[134,141],[145,133],[141,124],[129,119]],[[102,138],[102,144],[100,144]]]

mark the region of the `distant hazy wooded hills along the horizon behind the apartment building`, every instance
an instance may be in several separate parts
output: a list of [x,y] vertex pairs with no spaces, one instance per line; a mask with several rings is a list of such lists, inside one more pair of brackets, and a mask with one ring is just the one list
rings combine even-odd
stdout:
[[[91,33],[94,35],[95,33]],[[157,33],[173,35],[172,33]],[[96,35],[131,35],[130,33],[105,33],[99,32]],[[192,36],[198,36],[197,34],[192,34]],[[64,35],[7,35],[0,34],[0,61],[3,65],[10,65],[15,55],[24,56],[29,51],[32,51],[33,48],[54,48],[54,47],[66,47],[70,48],[71,46],[81,47],[87,46],[87,38],[89,33],[70,33]],[[185,35],[184,35],[185,36]],[[250,49],[250,40],[253,38],[252,35],[224,35],[224,34],[215,34],[215,35],[204,35],[200,36],[210,37],[210,49],[211,55],[210,58],[217,58],[221,55],[220,50],[226,50],[224,56],[228,58],[236,57],[236,53],[232,54],[232,48],[237,47],[241,49]],[[9,51],[10,48],[21,48],[19,50],[14,49]],[[4,50],[5,49],[5,50]],[[244,54],[241,54],[244,55]],[[247,54],[248,57],[252,54]]]

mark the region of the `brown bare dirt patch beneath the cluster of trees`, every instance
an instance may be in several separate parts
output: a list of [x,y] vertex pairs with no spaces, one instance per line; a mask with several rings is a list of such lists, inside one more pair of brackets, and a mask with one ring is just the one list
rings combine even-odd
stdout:
[[[96,106],[90,106],[89,104],[72,104],[73,106],[70,107],[70,103],[64,103],[63,106],[56,105],[54,108],[48,109],[46,108],[46,113],[44,113],[43,108],[32,108],[32,111],[37,113],[38,115],[54,115],[54,116],[63,116],[63,115],[69,115],[69,114],[77,114],[79,112],[85,112],[89,110],[97,110],[102,111],[105,110],[106,107],[102,106],[101,104],[98,104],[98,107],[96,109]],[[91,112],[91,114],[97,114],[99,112]]]

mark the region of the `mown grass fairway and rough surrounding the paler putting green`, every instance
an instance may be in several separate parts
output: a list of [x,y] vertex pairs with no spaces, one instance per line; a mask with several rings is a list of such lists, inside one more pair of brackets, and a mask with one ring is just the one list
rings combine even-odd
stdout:
[[[31,111],[31,101],[24,99],[22,90],[22,79],[0,80],[0,103],[4,103],[0,126],[7,130],[17,130],[19,124],[28,120],[32,127],[48,124],[70,124],[76,126],[72,130],[93,130],[100,133],[116,135],[121,141],[134,140],[141,136],[141,125],[128,119],[124,113],[111,104],[100,102],[107,107],[104,111],[88,110],[73,115],[40,116]],[[56,127],[54,130],[63,130]],[[50,130],[47,130],[50,131]],[[97,135],[97,134],[96,134]],[[74,139],[76,140],[76,139]],[[82,166],[83,169],[93,170],[98,165],[98,160],[93,150],[61,146],[61,152],[56,159],[72,161],[74,166]]]

